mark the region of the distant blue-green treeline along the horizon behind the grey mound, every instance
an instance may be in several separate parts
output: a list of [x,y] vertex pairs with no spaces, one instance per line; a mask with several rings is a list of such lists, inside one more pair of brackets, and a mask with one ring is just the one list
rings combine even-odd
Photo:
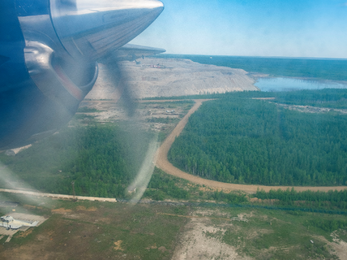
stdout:
[[347,59],[191,54],[159,54],[154,57],[190,59],[202,64],[239,68],[247,72],[269,74],[270,76],[347,80]]

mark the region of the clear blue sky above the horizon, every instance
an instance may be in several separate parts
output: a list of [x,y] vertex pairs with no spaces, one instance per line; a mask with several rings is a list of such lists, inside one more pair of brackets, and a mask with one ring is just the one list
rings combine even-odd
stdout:
[[130,43],[167,53],[347,58],[347,0],[163,0]]

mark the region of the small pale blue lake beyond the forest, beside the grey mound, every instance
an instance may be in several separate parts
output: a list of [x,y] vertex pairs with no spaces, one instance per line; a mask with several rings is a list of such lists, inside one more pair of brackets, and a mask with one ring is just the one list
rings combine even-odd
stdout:
[[314,81],[314,80],[302,80],[293,78],[259,78],[254,84],[261,91],[293,91],[302,89],[346,89],[346,84],[326,82],[326,81]]

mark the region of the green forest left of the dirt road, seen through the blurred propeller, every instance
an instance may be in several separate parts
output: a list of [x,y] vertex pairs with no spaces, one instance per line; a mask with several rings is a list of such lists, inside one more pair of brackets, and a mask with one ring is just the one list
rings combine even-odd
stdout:
[[[7,180],[42,192],[119,198],[137,174],[154,135],[114,124],[64,128],[16,156],[0,154]],[[17,176],[17,178],[16,178]],[[1,184],[10,188],[11,182]]]

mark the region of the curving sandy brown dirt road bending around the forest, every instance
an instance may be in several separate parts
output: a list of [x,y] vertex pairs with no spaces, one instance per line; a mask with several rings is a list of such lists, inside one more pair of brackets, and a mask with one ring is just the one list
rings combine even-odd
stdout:
[[[292,186],[263,186],[263,185],[243,185],[243,184],[232,184],[232,183],[224,183],[224,182],[219,182],[219,181],[212,181],[212,180],[207,180],[200,178],[198,176],[188,174],[184,171],[181,171],[180,169],[176,168],[173,166],[172,163],[169,162],[168,160],[168,152],[173,144],[173,141],[176,136],[178,136],[186,123],[188,122],[189,116],[194,113],[199,106],[208,100],[194,100],[195,104],[193,107],[189,110],[189,112],[182,118],[181,121],[177,124],[177,126],[173,129],[173,132],[168,136],[168,138],[164,141],[164,143],[161,145],[161,147],[158,150],[158,157],[157,157],[157,162],[156,166],[166,173],[169,173],[173,176],[186,179],[188,181],[205,185],[208,187],[212,188],[218,188],[218,189],[226,189],[226,190],[241,190],[249,193],[255,193],[257,189],[264,189],[266,192],[270,191],[271,189],[273,190],[286,190],[287,188],[291,189]],[[329,191],[329,190],[344,190],[347,189],[346,186],[335,186],[335,187],[307,187],[307,186],[294,186],[294,189],[296,191]]]

